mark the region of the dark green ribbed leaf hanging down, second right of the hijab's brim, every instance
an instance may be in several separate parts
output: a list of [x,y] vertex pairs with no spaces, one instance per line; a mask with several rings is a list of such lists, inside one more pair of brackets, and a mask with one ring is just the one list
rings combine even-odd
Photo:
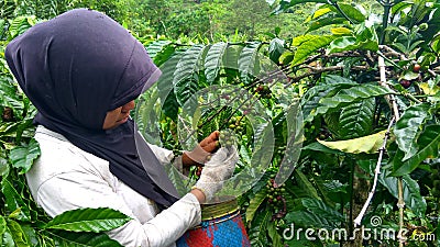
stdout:
[[183,105],[198,90],[198,74],[205,46],[195,45],[180,57],[174,71],[173,86],[177,102]]

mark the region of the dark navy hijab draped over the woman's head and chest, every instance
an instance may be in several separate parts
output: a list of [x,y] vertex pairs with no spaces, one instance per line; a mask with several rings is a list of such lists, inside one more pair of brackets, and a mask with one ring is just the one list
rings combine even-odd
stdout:
[[138,142],[143,160],[147,157],[152,167],[144,170],[132,120],[102,130],[107,112],[138,98],[160,72],[124,27],[100,12],[72,10],[10,42],[6,58],[38,110],[35,124],[108,160],[114,176],[160,205],[176,201],[177,192],[162,165],[144,142]]

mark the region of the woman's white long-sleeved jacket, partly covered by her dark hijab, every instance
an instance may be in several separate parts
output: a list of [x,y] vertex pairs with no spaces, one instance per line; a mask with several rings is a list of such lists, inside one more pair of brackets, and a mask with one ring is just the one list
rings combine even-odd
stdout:
[[[109,162],[79,149],[64,136],[38,126],[35,139],[41,157],[26,173],[38,205],[55,216],[78,207],[111,207],[131,216],[125,225],[110,231],[110,238],[123,246],[175,246],[188,228],[200,224],[200,204],[191,193],[169,209],[158,211],[155,202],[139,194],[109,170]],[[151,145],[161,162],[173,153]]]

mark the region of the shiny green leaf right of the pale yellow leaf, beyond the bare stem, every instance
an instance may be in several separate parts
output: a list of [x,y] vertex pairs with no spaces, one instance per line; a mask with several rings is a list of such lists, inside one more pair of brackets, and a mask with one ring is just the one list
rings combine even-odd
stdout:
[[400,150],[405,153],[403,161],[413,157],[419,149],[417,138],[424,130],[426,122],[431,119],[429,103],[421,103],[407,108],[396,122],[394,135]]

